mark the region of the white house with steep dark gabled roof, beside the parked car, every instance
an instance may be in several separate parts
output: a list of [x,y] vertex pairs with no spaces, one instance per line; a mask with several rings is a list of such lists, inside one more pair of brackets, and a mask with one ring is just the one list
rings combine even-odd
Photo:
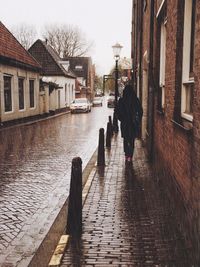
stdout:
[[46,41],[37,40],[29,52],[42,66],[43,80],[59,85],[57,90],[50,92],[50,111],[65,110],[75,99],[76,76],[69,70],[69,63],[62,60]]

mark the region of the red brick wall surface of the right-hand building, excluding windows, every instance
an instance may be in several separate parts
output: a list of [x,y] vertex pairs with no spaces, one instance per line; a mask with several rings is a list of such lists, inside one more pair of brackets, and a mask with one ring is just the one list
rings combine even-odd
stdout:
[[[155,105],[154,151],[155,171],[172,200],[172,209],[197,258],[199,247],[199,177],[200,177],[200,1],[196,7],[195,90],[193,131],[173,122],[175,104],[180,108],[182,29],[180,0],[167,0],[167,46],[165,76],[165,112]],[[177,9],[179,7],[179,9]],[[155,44],[156,46],[157,44]],[[156,53],[155,56],[158,56]],[[155,62],[158,62],[158,58]],[[155,69],[155,76],[158,74]],[[158,82],[158,80],[157,80]],[[156,96],[157,97],[157,96]],[[156,103],[157,99],[155,99]],[[196,177],[196,178],[195,178]],[[195,251],[196,250],[196,251]]]

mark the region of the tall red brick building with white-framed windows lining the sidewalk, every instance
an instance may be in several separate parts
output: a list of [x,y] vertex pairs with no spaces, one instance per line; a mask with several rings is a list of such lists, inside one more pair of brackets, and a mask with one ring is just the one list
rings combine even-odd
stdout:
[[198,265],[200,1],[133,0],[132,12],[132,79],[144,108],[142,139]]

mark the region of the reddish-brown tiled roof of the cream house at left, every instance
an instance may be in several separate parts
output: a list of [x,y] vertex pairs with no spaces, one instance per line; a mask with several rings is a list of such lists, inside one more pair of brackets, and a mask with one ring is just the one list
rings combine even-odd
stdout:
[[17,41],[11,32],[0,21],[0,56],[20,63],[41,68],[39,63]]

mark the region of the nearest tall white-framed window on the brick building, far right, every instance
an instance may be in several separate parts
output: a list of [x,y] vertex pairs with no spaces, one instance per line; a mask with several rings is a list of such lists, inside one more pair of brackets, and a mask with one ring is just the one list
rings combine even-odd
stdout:
[[195,0],[185,0],[181,116],[193,121]]

